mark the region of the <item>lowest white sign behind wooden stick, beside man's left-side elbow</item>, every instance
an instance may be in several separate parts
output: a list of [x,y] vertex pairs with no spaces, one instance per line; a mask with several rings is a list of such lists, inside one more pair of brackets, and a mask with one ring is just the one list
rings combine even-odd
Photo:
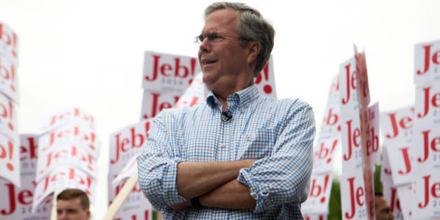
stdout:
[[[109,205],[116,198],[119,191],[123,188],[125,181],[119,181],[118,184],[111,184],[114,181],[116,174],[109,174]],[[132,192],[128,195],[127,199],[123,203],[121,209],[119,209],[114,219],[121,220],[132,220],[132,219],[142,219],[151,220],[152,219],[153,207],[149,200],[146,199],[144,193],[142,192],[139,184],[132,189]]]

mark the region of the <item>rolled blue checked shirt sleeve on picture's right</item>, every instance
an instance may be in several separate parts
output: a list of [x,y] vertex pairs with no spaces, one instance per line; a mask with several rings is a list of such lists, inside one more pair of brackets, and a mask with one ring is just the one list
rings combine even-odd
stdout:
[[299,205],[308,196],[315,138],[312,108],[296,102],[284,119],[272,155],[241,169],[237,178],[256,200],[254,212],[265,212],[283,203]]

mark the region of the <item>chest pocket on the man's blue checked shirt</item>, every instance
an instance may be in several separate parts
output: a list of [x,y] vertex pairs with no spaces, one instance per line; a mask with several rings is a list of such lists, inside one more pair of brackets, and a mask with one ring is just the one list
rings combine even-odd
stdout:
[[238,160],[270,157],[276,142],[275,130],[257,129],[242,135],[238,148]]

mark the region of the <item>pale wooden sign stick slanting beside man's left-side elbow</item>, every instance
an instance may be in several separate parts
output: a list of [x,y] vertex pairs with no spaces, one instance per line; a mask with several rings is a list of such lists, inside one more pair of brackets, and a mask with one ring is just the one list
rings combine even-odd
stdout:
[[121,188],[121,191],[118,193],[118,195],[116,195],[116,198],[113,200],[113,202],[111,202],[111,205],[107,210],[106,215],[104,216],[104,220],[111,220],[114,218],[114,216],[116,216],[119,209],[121,209],[122,205],[127,199],[128,194],[131,193],[131,191],[136,186],[136,184],[137,184],[137,175],[128,178],[124,186]]

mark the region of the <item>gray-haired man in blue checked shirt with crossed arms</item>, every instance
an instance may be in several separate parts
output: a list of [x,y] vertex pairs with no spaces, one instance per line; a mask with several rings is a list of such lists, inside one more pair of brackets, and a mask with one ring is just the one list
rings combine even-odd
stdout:
[[299,99],[254,84],[275,31],[254,8],[214,3],[196,37],[205,103],[154,118],[139,185],[163,219],[302,219],[315,121]]

